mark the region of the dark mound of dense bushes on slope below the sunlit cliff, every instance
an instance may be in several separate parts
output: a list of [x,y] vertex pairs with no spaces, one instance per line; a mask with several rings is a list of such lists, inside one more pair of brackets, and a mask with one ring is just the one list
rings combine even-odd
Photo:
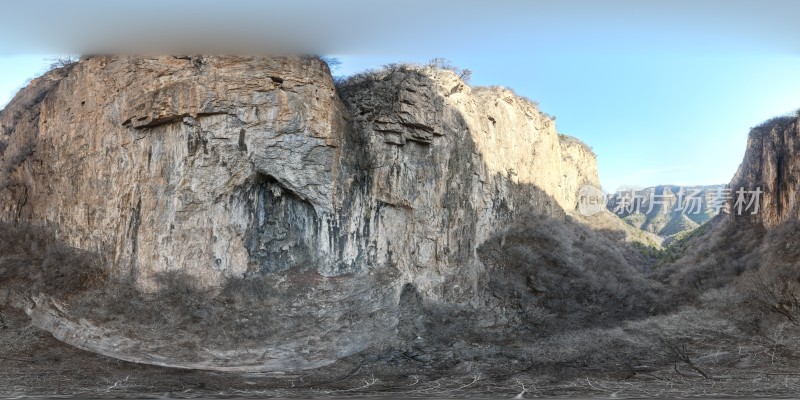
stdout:
[[534,331],[611,325],[654,313],[663,291],[618,243],[571,217],[528,216],[479,254],[492,308],[516,310]]

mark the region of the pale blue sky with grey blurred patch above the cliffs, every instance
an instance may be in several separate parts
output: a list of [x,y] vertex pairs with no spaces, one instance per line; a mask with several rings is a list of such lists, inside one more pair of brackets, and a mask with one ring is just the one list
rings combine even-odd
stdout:
[[[0,17],[0,105],[46,69],[52,56],[44,54],[277,48],[335,55],[335,75],[444,57],[471,69],[473,85],[507,86],[538,101],[560,132],[593,147],[607,190],[727,183],[749,128],[800,108],[797,1],[235,0],[225,10],[191,3],[192,15],[179,8],[189,3],[176,1],[153,2],[161,12],[148,29],[137,13],[150,8],[139,3],[40,3],[55,10],[12,5]],[[103,13],[127,18],[110,24]],[[51,17],[87,23],[48,36],[37,24]]]

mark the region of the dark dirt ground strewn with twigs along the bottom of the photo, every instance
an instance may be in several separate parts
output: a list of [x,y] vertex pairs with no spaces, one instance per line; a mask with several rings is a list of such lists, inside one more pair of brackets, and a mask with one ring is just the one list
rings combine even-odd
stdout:
[[711,379],[655,369],[613,375],[587,371],[585,376],[573,371],[565,378],[525,365],[475,372],[482,369],[480,360],[446,366],[408,352],[354,356],[294,374],[169,369],[78,350],[31,326],[20,311],[4,309],[2,315],[0,397],[6,398],[785,397],[800,393],[800,373],[791,368],[740,369]]

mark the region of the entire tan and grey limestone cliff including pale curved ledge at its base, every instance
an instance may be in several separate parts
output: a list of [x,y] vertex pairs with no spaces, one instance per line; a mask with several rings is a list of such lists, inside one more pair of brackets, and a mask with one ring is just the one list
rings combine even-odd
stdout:
[[3,220],[50,223],[143,291],[170,271],[211,289],[268,277],[283,306],[260,312],[296,323],[248,349],[186,338],[203,350],[177,355],[46,300],[29,312],[111,356],[274,370],[391,337],[403,288],[476,305],[477,247],[523,213],[574,209],[594,159],[508,90],[377,75],[341,99],[299,57],[91,57],[34,80],[0,115]]

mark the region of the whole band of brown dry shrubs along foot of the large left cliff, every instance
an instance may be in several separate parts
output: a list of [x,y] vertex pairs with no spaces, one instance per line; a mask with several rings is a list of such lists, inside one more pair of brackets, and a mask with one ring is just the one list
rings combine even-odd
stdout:
[[204,287],[181,271],[158,274],[158,290],[143,292],[134,278],[110,275],[99,255],[60,243],[53,229],[0,224],[0,305],[43,294],[86,319],[141,340],[202,337],[209,343],[262,343],[302,321],[276,321],[283,302],[313,290],[318,273],[291,271],[286,282],[257,275]]

